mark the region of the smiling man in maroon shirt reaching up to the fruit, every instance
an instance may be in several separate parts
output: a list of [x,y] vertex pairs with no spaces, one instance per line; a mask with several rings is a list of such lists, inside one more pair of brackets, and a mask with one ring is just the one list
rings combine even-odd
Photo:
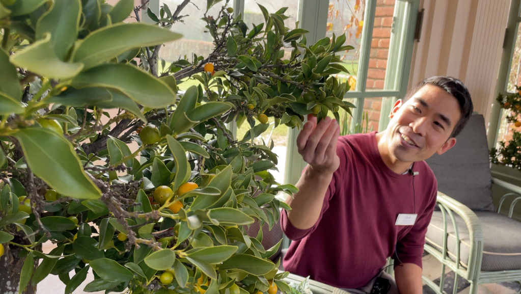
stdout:
[[[308,116],[297,138],[308,165],[299,192],[286,201],[292,210],[281,216],[293,240],[284,269],[355,293],[369,293],[377,277],[389,280],[389,293],[422,293],[421,256],[437,192],[424,160],[451,149],[472,113],[461,81],[432,77],[394,104],[381,133],[339,137],[335,120],[317,125]],[[395,281],[383,272],[389,256]]]

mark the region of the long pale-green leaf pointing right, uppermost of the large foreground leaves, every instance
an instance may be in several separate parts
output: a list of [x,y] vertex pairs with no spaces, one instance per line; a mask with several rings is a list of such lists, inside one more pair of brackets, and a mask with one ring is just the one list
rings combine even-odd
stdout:
[[86,36],[75,48],[72,60],[90,69],[132,48],[163,44],[181,37],[181,34],[142,22],[116,23]]

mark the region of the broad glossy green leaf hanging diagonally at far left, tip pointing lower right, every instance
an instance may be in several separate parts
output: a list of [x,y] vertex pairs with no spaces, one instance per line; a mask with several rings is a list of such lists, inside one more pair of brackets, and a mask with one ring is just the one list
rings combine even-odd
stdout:
[[63,136],[46,128],[19,129],[14,136],[33,173],[58,193],[78,199],[100,197],[100,189],[86,177],[72,145]]

